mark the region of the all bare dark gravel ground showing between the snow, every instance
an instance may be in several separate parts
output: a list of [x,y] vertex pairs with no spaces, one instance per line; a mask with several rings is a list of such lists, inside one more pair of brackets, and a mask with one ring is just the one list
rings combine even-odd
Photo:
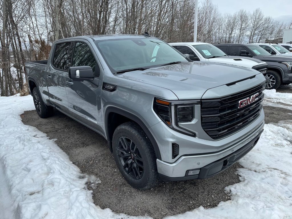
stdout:
[[[284,93],[292,91],[287,86],[279,89]],[[266,123],[277,123],[283,118],[292,120],[288,109],[264,106],[264,111]],[[106,140],[91,129],[58,111],[47,119],[39,118],[36,111],[27,111],[21,118],[24,124],[34,126],[49,138],[56,139],[56,144],[68,154],[82,173],[98,177],[101,183],[94,187],[90,187],[88,183],[88,189],[93,191],[94,203],[116,213],[163,218],[201,205],[205,208],[214,207],[220,201],[230,199],[224,188],[240,181],[237,168],[241,166],[236,163],[212,178],[181,182],[161,181],[152,190],[136,190],[122,178],[114,157],[107,148]]]

